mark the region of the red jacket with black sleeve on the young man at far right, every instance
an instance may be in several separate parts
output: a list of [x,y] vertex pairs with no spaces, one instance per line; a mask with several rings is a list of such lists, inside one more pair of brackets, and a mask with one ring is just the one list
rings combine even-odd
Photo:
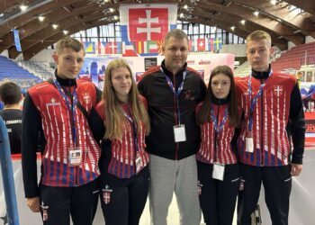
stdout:
[[[253,72],[251,78],[252,99],[259,86],[266,81],[263,94],[258,98],[253,112],[254,152],[246,151],[246,138],[249,121],[250,100],[248,96],[248,77],[236,77],[238,101],[244,112],[242,130],[238,139],[239,161],[251,166],[285,166],[291,161],[291,145],[287,133],[290,121],[293,137],[293,163],[302,164],[305,122],[302,100],[297,81],[293,76],[274,72]],[[267,74],[267,76],[266,76]],[[294,103],[294,107],[293,104]]]

